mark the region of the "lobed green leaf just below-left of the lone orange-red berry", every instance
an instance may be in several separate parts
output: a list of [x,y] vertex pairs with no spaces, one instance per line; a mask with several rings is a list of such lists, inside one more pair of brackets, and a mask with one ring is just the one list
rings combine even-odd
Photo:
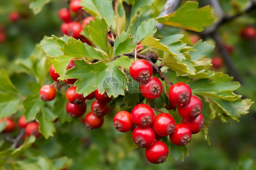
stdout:
[[22,105],[25,108],[24,116],[27,121],[35,120],[38,112],[43,108],[44,101],[39,98],[39,95],[29,95],[23,101]]

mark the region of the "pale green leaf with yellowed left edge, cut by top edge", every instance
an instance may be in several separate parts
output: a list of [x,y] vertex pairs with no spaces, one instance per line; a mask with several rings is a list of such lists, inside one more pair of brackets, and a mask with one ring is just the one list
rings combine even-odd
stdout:
[[112,1],[81,0],[81,6],[83,6],[85,11],[88,12],[93,17],[99,16],[99,18],[105,18],[108,25],[111,26],[114,20],[114,15],[115,15],[113,6],[112,6]]

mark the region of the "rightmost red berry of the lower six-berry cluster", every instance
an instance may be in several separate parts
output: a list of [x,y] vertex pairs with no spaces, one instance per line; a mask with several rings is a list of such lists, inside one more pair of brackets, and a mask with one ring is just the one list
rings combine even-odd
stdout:
[[191,130],[188,125],[179,123],[175,125],[174,132],[170,134],[171,142],[177,146],[188,144],[191,139]]

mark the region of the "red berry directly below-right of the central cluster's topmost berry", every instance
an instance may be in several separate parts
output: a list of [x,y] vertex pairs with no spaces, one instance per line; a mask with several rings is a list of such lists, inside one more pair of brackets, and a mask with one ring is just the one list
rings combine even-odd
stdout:
[[148,99],[158,98],[163,91],[163,85],[156,77],[150,77],[149,80],[140,85],[141,94]]

